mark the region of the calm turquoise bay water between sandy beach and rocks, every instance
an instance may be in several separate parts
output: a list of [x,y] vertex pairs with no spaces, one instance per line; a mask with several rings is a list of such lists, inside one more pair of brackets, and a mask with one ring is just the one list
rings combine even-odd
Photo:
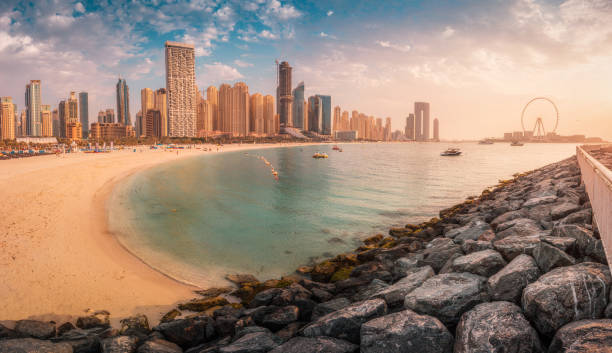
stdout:
[[[569,144],[464,143],[460,157],[440,157],[445,143],[340,146],[342,153],[331,145],[289,147],[157,166],[116,187],[110,229],[143,261],[182,281],[215,285],[233,272],[263,280],[575,153]],[[313,159],[316,151],[329,158]]]

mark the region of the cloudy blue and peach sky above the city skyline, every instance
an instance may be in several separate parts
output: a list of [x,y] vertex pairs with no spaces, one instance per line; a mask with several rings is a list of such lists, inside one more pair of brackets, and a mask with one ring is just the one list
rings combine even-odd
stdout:
[[[431,104],[444,139],[521,130],[534,97],[559,111],[557,132],[612,140],[612,1],[62,1],[1,0],[0,96],[23,109],[25,85],[44,104],[89,92],[90,122],[130,88],[165,86],[164,42],[196,48],[196,83],[244,81],[275,92],[276,59],[293,86],[332,105],[391,117],[402,129],[415,101]],[[554,108],[536,102],[550,131]]]

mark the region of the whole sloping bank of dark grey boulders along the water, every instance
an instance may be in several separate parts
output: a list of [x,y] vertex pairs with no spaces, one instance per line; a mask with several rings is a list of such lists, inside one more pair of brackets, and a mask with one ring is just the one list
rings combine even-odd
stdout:
[[0,325],[0,352],[609,352],[612,277],[575,158],[278,280],[230,275],[149,326]]

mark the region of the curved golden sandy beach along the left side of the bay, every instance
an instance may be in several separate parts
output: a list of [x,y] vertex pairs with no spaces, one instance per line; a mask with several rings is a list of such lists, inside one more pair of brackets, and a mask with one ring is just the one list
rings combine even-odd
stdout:
[[[280,146],[296,144],[220,152]],[[115,322],[135,313],[156,322],[192,298],[195,287],[155,271],[108,232],[106,200],[133,173],[207,153],[130,149],[0,162],[0,320],[61,321],[104,309]]]

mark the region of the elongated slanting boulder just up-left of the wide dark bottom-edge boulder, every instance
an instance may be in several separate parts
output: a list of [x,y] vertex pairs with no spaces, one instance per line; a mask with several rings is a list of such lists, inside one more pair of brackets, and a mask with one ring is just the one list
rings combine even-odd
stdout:
[[357,302],[327,314],[306,326],[302,334],[306,337],[329,336],[359,343],[361,324],[387,313],[387,304],[382,299]]

